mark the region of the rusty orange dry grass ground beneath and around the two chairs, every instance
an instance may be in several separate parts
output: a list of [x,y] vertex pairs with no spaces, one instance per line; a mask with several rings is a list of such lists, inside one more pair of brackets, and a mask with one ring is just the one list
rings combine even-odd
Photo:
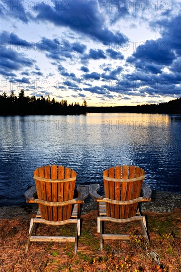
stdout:
[[[172,213],[147,213],[150,243],[137,238],[136,223],[124,224],[121,232],[133,233],[130,241],[105,241],[100,252],[96,211],[82,218],[78,254],[74,243],[32,243],[27,254],[25,244],[30,220],[24,218],[0,220],[0,272],[181,272],[181,210]],[[118,226],[107,223],[116,233]],[[45,234],[63,232],[70,235],[72,225],[50,227],[40,225]],[[59,234],[58,234],[59,235]],[[65,234],[63,234],[65,235]],[[160,263],[152,257],[159,257]]]

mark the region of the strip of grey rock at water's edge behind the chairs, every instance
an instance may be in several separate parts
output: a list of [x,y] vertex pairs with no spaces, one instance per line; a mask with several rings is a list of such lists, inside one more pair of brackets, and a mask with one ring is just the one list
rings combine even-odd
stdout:
[[[95,210],[97,204],[89,196],[85,203],[82,205],[82,214],[86,214],[91,210]],[[151,212],[171,212],[175,208],[181,209],[181,194],[152,191],[152,201],[147,203],[141,203],[142,211]],[[0,207],[0,219],[11,219],[14,217],[29,218],[30,214],[34,214],[37,211],[36,204],[25,204],[21,206],[5,206]]]

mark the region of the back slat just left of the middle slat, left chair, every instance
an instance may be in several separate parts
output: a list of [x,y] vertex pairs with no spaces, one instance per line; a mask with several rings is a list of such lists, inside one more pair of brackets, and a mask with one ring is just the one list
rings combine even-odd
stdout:
[[[50,170],[50,165],[47,165],[44,167],[45,171],[45,179],[51,179],[51,170]],[[51,182],[43,182],[46,186],[46,201],[51,202],[52,201],[52,188],[51,188]],[[45,200],[45,199],[44,199]],[[52,207],[47,207],[48,208],[48,216],[45,218],[47,220],[53,220],[53,211]]]

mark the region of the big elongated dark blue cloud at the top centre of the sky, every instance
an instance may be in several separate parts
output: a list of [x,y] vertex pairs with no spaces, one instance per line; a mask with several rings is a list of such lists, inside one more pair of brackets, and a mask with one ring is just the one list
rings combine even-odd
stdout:
[[97,1],[68,0],[67,6],[46,5],[44,8],[37,4],[36,20],[49,21],[56,26],[69,27],[78,33],[85,34],[91,39],[104,42],[124,42],[127,38],[119,31],[113,33],[104,27],[104,16],[100,12]]

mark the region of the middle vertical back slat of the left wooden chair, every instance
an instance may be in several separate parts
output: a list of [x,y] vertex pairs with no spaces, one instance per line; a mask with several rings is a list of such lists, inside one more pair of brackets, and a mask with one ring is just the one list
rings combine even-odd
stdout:
[[[57,179],[57,165],[51,166],[51,179]],[[58,202],[58,184],[52,181],[52,201]],[[53,207],[53,220],[58,221],[58,208]]]

